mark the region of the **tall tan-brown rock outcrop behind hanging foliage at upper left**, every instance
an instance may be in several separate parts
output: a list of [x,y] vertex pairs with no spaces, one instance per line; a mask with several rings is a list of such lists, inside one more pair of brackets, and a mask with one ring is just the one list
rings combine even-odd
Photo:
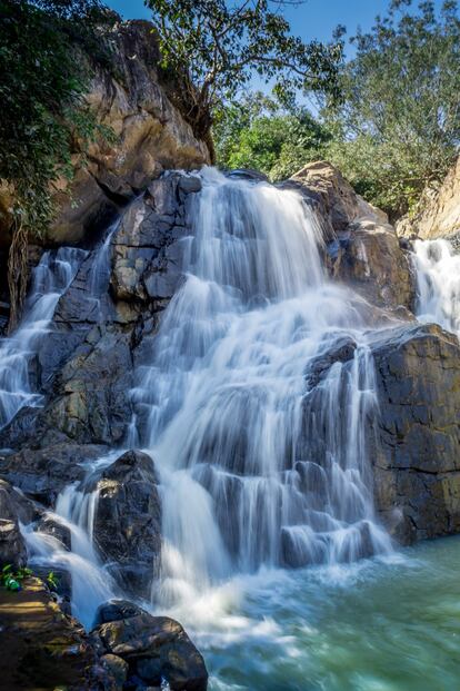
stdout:
[[62,181],[57,198],[61,211],[50,229],[50,241],[76,243],[88,230],[104,227],[164,169],[193,169],[209,162],[207,146],[196,139],[172,105],[171,85],[158,73],[154,27],[141,20],[123,22],[111,41],[112,69],[98,70],[87,100],[116,141],[91,145],[88,167],[80,167],[76,157],[72,199],[63,194]]

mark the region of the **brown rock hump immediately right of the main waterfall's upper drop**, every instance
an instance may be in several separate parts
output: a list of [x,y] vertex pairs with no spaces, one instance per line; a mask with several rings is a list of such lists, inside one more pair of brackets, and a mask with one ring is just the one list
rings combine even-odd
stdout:
[[378,307],[413,308],[411,264],[383,211],[357,195],[326,161],[309,164],[288,186],[298,189],[320,216],[333,278]]

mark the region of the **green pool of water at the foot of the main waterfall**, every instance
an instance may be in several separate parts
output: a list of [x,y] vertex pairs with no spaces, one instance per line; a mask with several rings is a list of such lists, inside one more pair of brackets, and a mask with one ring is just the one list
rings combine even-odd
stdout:
[[460,537],[350,569],[260,574],[201,608],[211,691],[460,690]]

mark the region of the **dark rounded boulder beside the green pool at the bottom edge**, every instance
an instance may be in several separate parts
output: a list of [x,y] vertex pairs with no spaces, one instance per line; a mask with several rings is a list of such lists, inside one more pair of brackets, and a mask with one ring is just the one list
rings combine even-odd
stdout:
[[[98,650],[121,658],[129,677],[159,687],[166,679],[171,691],[206,691],[204,660],[182,626],[168,616],[152,616],[130,602],[102,604],[92,632]],[[128,678],[129,683],[129,678]]]

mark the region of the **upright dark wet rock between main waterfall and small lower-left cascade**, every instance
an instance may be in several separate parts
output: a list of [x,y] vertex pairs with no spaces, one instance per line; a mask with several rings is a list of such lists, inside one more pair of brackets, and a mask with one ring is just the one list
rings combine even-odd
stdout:
[[94,541],[127,592],[149,598],[159,573],[161,505],[153,462],[130,451],[106,468],[97,483]]

